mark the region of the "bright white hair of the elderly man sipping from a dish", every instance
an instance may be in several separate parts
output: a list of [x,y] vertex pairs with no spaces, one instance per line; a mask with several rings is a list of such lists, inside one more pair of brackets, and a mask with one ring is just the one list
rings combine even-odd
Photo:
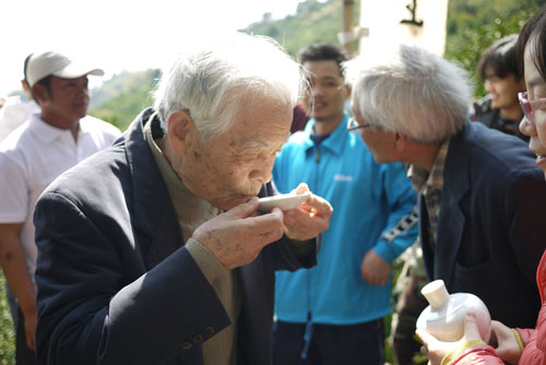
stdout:
[[181,55],[159,81],[154,108],[164,130],[173,111],[187,110],[207,140],[228,130],[252,97],[294,106],[304,80],[275,40],[236,33]]

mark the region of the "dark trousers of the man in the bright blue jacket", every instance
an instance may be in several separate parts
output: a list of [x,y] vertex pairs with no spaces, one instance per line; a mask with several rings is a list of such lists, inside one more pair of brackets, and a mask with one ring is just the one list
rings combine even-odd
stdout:
[[274,365],[330,365],[384,363],[381,319],[352,326],[313,325],[308,358],[301,358],[305,323],[277,321],[273,330]]

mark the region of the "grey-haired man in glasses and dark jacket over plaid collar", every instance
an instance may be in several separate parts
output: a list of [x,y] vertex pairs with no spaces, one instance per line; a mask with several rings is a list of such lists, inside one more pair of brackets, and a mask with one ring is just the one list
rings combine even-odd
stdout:
[[351,129],[378,162],[411,164],[428,278],[476,294],[494,319],[532,327],[546,184],[523,141],[465,121],[470,98],[460,68],[404,46],[358,74]]

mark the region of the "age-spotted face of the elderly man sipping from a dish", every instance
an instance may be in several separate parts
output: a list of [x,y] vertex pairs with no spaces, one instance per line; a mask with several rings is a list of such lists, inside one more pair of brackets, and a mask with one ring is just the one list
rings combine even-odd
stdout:
[[257,96],[242,103],[228,131],[202,142],[191,127],[178,170],[195,196],[223,210],[256,197],[271,180],[276,152],[289,136],[292,106]]

